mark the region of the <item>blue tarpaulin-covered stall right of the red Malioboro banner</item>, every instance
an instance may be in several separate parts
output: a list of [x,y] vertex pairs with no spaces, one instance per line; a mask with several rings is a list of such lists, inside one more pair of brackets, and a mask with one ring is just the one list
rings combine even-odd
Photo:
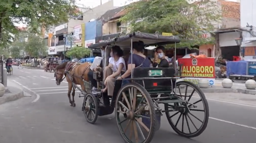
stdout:
[[248,75],[248,62],[230,61],[227,62],[227,77],[229,74]]

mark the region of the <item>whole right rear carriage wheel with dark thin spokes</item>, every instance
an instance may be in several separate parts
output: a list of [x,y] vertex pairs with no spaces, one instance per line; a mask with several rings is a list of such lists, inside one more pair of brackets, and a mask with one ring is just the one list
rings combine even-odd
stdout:
[[[197,95],[195,92],[197,92]],[[176,83],[176,94],[174,96],[187,102],[165,104],[165,111],[169,110],[169,112],[166,112],[167,120],[172,129],[186,138],[193,138],[202,134],[209,119],[209,106],[202,90],[191,82],[179,81]],[[198,109],[200,108],[199,103],[202,103],[201,109]],[[200,114],[203,118],[198,117]],[[184,125],[187,127],[184,127]]]

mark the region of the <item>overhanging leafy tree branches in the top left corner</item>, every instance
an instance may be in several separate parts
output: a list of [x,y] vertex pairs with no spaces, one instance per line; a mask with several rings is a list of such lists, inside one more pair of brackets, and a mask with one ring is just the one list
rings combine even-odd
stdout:
[[0,45],[4,47],[10,34],[19,30],[15,23],[24,23],[32,33],[39,33],[54,24],[66,22],[77,13],[75,0],[2,0],[0,3]]

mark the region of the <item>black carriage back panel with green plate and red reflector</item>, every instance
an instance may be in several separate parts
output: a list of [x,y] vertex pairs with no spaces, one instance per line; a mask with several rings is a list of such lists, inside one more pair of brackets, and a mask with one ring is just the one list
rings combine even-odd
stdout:
[[154,79],[139,79],[134,80],[133,82],[139,83],[140,85],[145,87],[146,90],[171,91],[171,87],[174,87],[176,80],[162,78],[171,78],[174,77],[174,74],[174,68],[138,67],[133,70],[133,78],[154,77]]

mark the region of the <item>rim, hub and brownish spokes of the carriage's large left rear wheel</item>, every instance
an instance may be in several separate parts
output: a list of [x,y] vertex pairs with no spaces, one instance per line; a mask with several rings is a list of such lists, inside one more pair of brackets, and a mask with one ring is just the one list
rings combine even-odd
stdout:
[[[127,97],[126,99],[125,99],[125,97],[126,96],[124,96],[124,92],[125,92],[125,90],[129,90],[129,95],[132,95],[132,96],[130,96],[130,98],[129,97]],[[121,134],[122,134],[122,136],[123,136],[123,138],[125,138],[125,140],[127,141],[127,142],[129,142],[129,143],[131,143],[131,140],[133,139],[133,137],[131,137],[131,131],[130,131],[130,136],[128,137],[126,134],[125,134],[125,132],[126,132],[126,130],[127,130],[127,128],[132,128],[133,127],[133,130],[134,130],[134,134],[133,134],[133,136],[135,136],[135,140],[136,140],[136,143],[138,143],[138,132],[140,133],[140,135],[142,136],[142,138],[143,138],[143,141],[140,141],[140,143],[144,143],[145,141],[147,141],[148,140],[148,138],[150,138],[149,137],[149,135],[150,135],[150,132],[152,131],[152,128],[154,128],[154,127],[152,127],[154,124],[153,123],[151,123],[152,125],[148,128],[142,121],[140,121],[140,119],[138,119],[138,116],[137,115],[135,115],[136,117],[135,117],[135,119],[124,119],[124,120],[121,120],[120,119],[120,115],[122,115],[123,114],[123,112],[125,112],[127,109],[129,110],[129,109],[133,109],[134,110],[134,93],[136,93],[137,91],[135,91],[135,90],[139,90],[141,93],[142,93],[142,95],[143,95],[143,97],[142,97],[142,100],[141,101],[143,101],[143,100],[145,100],[145,101],[147,101],[147,104],[149,104],[149,99],[147,99],[147,98],[145,98],[145,96],[146,95],[144,95],[143,94],[143,91],[140,89],[140,88],[138,88],[138,87],[136,87],[136,86],[134,86],[134,85],[129,85],[129,87],[127,86],[127,89],[125,89],[125,88],[123,88],[123,90],[122,91],[120,91],[119,92],[119,94],[118,94],[118,97],[116,98],[116,100],[118,101],[118,102],[116,102],[116,108],[115,108],[115,113],[116,113],[116,121],[117,121],[117,124],[118,124],[118,127],[119,127],[119,130],[120,130],[120,132],[121,132]],[[123,107],[123,105],[120,103],[121,101],[120,101],[120,99],[123,97],[123,99],[122,99],[122,102],[126,102],[126,104],[127,104],[127,106],[125,106],[125,110],[122,110],[122,109],[120,109],[120,107],[122,106]],[[137,95],[136,95],[136,97],[138,97]],[[127,103],[127,101],[130,101],[132,104],[129,104],[129,103]],[[130,105],[130,107],[129,107],[129,105]],[[142,106],[143,107],[143,106]],[[135,111],[134,111],[134,113],[136,114],[136,111],[139,111],[140,109],[143,109],[142,107],[138,107],[138,106],[136,106],[136,104],[135,104]],[[131,110],[130,110],[131,111]],[[153,111],[151,111],[150,110],[150,108],[149,108],[149,114],[150,114],[150,116],[152,116],[153,115],[153,112],[154,112],[154,110]],[[121,113],[121,114],[120,114]],[[125,112],[125,113],[128,113],[128,112]],[[123,114],[124,115],[124,114]],[[142,115],[140,115],[140,117],[143,117]],[[122,127],[122,123],[123,122],[125,122],[125,121],[127,121],[127,120],[129,120],[129,122],[128,122],[128,124],[126,125],[126,127],[125,127],[125,129],[123,129],[123,127]],[[151,118],[151,120],[152,120],[152,118]],[[152,122],[154,122],[154,119],[153,119],[153,121]],[[143,124],[143,125],[142,125]],[[130,126],[129,126],[130,125]],[[142,126],[142,127],[140,127],[140,125]],[[145,136],[144,136],[144,134],[143,134],[143,132],[142,132],[142,129],[144,129],[144,130],[146,130],[146,131],[148,131],[148,135],[146,136],[146,138],[145,138]],[[154,131],[153,131],[154,132]]]

